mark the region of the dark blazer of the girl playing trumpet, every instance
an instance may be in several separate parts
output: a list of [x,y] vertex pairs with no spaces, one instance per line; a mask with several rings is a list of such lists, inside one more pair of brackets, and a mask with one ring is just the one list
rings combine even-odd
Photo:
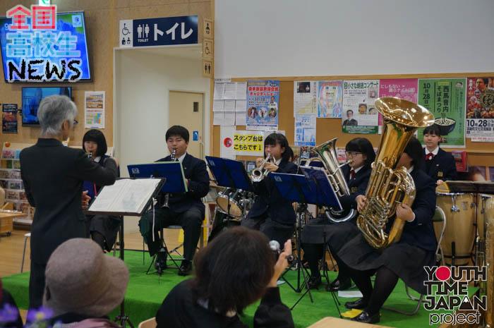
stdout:
[[[276,173],[295,174],[297,169],[295,164],[282,160]],[[267,212],[272,221],[281,224],[295,223],[296,216],[291,200],[282,198],[269,174],[262,181],[253,183],[253,186],[258,198],[248,212],[248,217],[260,217]]]

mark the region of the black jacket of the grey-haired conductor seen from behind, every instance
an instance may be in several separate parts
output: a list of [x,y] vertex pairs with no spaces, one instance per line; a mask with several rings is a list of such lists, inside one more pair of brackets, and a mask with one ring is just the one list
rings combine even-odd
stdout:
[[58,245],[71,238],[85,238],[83,182],[112,185],[116,164],[109,159],[104,168],[83,150],[48,138],[40,138],[22,150],[19,159],[26,198],[35,207],[31,260],[46,264]]

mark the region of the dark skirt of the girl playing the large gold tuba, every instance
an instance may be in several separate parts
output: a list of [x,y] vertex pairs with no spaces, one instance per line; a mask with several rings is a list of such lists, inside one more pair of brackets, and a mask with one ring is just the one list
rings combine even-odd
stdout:
[[424,266],[435,264],[435,255],[415,245],[398,242],[384,250],[376,250],[363,238],[362,233],[351,239],[338,252],[342,261],[359,271],[372,271],[384,266],[418,293],[426,293],[423,281],[427,279]]

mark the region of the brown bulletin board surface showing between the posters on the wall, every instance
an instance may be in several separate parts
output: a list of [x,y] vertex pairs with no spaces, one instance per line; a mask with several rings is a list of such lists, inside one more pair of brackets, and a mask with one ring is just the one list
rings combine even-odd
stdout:
[[[297,77],[259,77],[259,78],[231,78],[231,82],[245,82],[247,80],[279,80],[279,126],[278,130],[284,130],[290,145],[294,144],[294,81],[300,80],[373,80],[373,79],[404,79],[404,78],[469,78],[469,77],[493,77],[493,72],[488,73],[447,73],[447,74],[405,74],[405,75],[325,75],[325,76],[297,76]],[[212,101],[212,100],[211,100]],[[211,104],[212,108],[212,104]],[[245,130],[245,126],[236,126],[236,130]],[[220,127],[212,126],[212,149],[213,156],[220,154]],[[342,133],[342,119],[316,120],[316,145],[327,140],[338,137],[337,147],[344,145],[353,138],[368,138],[374,147],[378,147],[381,135],[379,134],[351,134]],[[418,136],[422,138],[421,135]],[[467,163],[477,166],[493,166],[494,142],[471,142],[466,138],[466,147],[448,148],[447,151],[461,150],[467,152]],[[253,160],[251,156],[237,156],[240,160]],[[488,169],[488,168],[487,168]],[[490,177],[494,178],[494,177]]]

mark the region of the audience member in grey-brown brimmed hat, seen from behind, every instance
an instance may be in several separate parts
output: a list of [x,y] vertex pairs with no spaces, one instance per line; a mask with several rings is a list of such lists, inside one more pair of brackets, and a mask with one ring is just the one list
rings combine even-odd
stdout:
[[90,239],[73,238],[54,250],[45,273],[43,305],[54,311],[49,324],[119,327],[107,315],[122,302],[127,289],[128,269],[122,260],[104,255]]

